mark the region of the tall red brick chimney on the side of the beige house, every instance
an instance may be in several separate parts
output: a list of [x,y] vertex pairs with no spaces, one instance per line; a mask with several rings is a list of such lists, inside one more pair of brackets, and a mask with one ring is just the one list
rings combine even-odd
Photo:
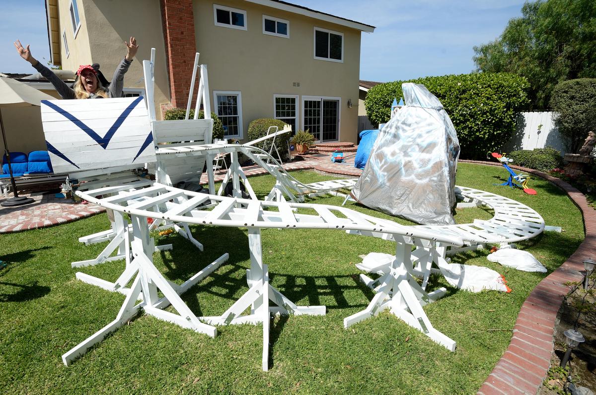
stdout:
[[197,52],[193,0],[161,0],[161,6],[172,107],[185,108]]

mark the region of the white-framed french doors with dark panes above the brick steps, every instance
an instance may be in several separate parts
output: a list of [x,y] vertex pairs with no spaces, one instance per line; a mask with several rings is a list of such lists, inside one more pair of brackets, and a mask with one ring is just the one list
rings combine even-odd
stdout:
[[337,141],[339,138],[340,99],[302,97],[302,125],[315,136],[315,141]]

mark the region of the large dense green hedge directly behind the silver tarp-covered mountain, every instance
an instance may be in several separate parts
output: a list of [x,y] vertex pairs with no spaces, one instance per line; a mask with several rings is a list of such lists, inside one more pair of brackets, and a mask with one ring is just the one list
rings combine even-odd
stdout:
[[369,89],[364,102],[372,123],[390,118],[394,98],[403,97],[402,83],[421,83],[435,95],[457,131],[461,158],[485,159],[500,151],[516,128],[516,110],[528,102],[529,84],[510,73],[473,73],[381,83]]

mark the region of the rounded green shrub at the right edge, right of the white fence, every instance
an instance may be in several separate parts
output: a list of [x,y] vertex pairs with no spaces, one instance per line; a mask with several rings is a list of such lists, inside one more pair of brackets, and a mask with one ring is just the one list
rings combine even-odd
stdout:
[[568,139],[569,152],[578,152],[588,132],[596,132],[596,78],[558,83],[550,105],[558,113],[555,122],[559,133]]

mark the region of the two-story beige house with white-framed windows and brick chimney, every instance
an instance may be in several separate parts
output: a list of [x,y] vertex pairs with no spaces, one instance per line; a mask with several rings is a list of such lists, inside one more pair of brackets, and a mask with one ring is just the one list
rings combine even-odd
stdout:
[[157,114],[186,107],[200,52],[227,137],[270,117],[356,142],[361,33],[373,26],[276,0],[46,0],[46,10],[51,60],[65,70],[99,63],[110,79],[136,37],[129,94],[142,94],[141,61],[156,48]]

